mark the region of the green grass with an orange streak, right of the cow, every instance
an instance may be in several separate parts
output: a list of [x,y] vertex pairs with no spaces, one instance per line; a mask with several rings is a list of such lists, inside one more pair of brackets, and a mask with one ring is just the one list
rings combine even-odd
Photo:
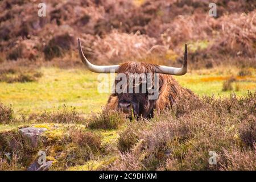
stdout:
[[[238,97],[247,94],[248,90],[256,90],[256,77],[255,69],[251,69],[251,76],[240,77],[237,76],[239,72],[236,68],[220,68],[220,69],[209,69],[193,71],[192,73],[187,73],[184,76],[175,76],[175,79],[180,85],[185,88],[191,89],[193,92],[199,96],[230,96],[231,93],[235,93]],[[236,77],[237,81],[232,83],[233,88],[236,84],[240,85],[240,90],[223,92],[222,84],[225,80],[230,77]]]

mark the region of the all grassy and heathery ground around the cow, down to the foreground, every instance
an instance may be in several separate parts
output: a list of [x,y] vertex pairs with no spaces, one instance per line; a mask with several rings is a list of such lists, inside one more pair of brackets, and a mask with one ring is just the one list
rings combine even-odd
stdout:
[[[256,88],[254,69],[249,69],[250,74],[247,76],[238,76],[241,75],[241,70],[232,67],[201,69],[191,71],[184,76],[175,76],[182,86],[191,89],[200,97],[214,94],[218,98],[236,93],[241,101],[232,101],[230,97],[223,98],[226,99],[224,102],[216,100],[207,104],[208,101],[204,101],[201,110],[185,115],[187,117],[185,119],[176,118],[176,120],[173,114],[167,111],[150,121],[139,122],[127,121],[118,113],[106,115],[101,113],[109,94],[97,92],[98,74],[78,68],[43,67],[38,71],[43,76],[34,82],[0,82],[0,102],[6,106],[11,105],[14,111],[13,114],[10,113],[11,119],[4,118],[3,123],[0,124],[0,142],[2,142],[0,170],[25,170],[38,158],[39,150],[46,151],[47,161],[53,162],[51,170],[254,168],[251,166],[253,153],[250,147],[245,153],[241,152],[245,150],[243,148],[245,145],[249,143],[251,146],[250,141],[254,140],[253,130],[250,129],[253,127],[253,102],[250,102],[253,101],[253,96],[247,95],[248,90],[254,92]],[[235,80],[232,82],[233,90],[224,92],[223,83],[230,77]],[[201,107],[197,102],[184,102],[177,110],[192,113],[193,107]],[[234,107],[231,113],[230,103],[232,103],[231,108]],[[72,111],[74,107],[76,110]],[[99,114],[90,114],[92,111]],[[35,118],[30,118],[31,114],[35,114]],[[243,118],[243,123],[237,121],[237,118]],[[221,124],[212,125],[212,121]],[[19,128],[28,126],[48,129],[43,135],[43,143],[37,148],[27,145],[26,140],[18,133]],[[193,135],[185,140],[183,133],[187,130],[184,130],[184,126],[191,127],[188,131],[193,131]],[[205,128],[202,129],[202,126]],[[180,139],[169,136],[172,132],[177,136],[180,135]],[[223,135],[221,139],[220,135]],[[161,146],[161,139],[168,143],[167,146],[158,148],[158,145]],[[18,141],[15,151],[11,148],[13,140]],[[153,151],[140,149],[142,140],[146,141]],[[198,152],[201,143],[207,147]],[[232,148],[233,145],[242,149]],[[229,151],[228,154],[239,155],[241,159],[234,160],[225,153],[226,149]],[[120,153],[126,150],[130,152]],[[175,160],[163,158],[162,152],[166,150],[167,153],[169,150],[174,150]],[[221,154],[220,166],[217,168],[205,163],[208,162],[208,150],[216,150]],[[139,153],[137,154],[136,151]],[[12,159],[9,161],[5,155],[1,157],[1,152],[5,154],[12,152]],[[196,152],[196,158],[190,159],[189,152]],[[150,158],[145,162],[142,160],[144,156]],[[226,160],[230,162],[227,168],[221,166],[228,163]],[[195,166],[190,166],[191,161]],[[163,164],[166,164],[166,168],[161,168]]]

